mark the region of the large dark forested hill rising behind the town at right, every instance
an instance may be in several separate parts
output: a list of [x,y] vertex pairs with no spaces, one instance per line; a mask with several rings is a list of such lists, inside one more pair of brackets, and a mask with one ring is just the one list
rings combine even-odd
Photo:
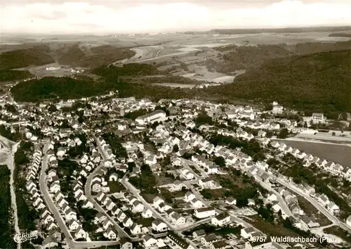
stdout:
[[213,96],[279,101],[300,110],[351,112],[351,50],[267,61],[232,84],[207,89]]

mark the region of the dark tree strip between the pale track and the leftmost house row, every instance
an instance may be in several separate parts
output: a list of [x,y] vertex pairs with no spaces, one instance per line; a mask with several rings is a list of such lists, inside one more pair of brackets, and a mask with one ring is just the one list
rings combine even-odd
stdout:
[[38,213],[29,203],[29,194],[26,188],[25,172],[27,164],[30,162],[28,154],[33,153],[34,146],[31,142],[22,141],[15,153],[15,171],[13,181],[15,184],[15,196],[17,203],[18,226],[21,230],[34,231],[35,219],[39,218]]

